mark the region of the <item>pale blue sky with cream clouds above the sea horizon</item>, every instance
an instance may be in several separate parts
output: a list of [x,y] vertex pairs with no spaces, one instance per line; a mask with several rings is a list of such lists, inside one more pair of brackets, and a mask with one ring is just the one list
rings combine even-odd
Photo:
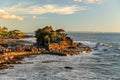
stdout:
[[120,32],[120,0],[0,0],[0,26],[34,32]]

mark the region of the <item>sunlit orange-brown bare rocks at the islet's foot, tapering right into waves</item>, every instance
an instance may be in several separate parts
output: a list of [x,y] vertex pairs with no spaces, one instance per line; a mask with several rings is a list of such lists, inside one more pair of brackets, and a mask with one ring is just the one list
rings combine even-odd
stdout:
[[69,43],[69,41],[61,41],[60,43],[51,43],[48,46],[50,54],[56,54],[61,56],[78,55],[81,53],[88,53],[92,51],[92,48],[82,43]]

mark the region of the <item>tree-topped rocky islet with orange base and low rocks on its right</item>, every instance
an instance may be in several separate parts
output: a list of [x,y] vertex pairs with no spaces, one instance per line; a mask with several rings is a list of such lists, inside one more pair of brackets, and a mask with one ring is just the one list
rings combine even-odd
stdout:
[[54,31],[52,27],[47,26],[43,29],[38,29],[36,37],[38,45],[45,46],[44,48],[48,50],[48,53],[74,55],[91,51],[89,46],[74,43],[73,39],[68,37],[63,29]]

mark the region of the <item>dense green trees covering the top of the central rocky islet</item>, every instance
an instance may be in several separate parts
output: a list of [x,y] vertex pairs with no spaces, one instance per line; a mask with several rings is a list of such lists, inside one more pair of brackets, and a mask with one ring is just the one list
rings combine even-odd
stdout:
[[59,30],[54,31],[52,26],[46,26],[44,28],[40,28],[37,31],[35,31],[35,37],[37,38],[37,43],[40,45],[59,42],[60,40],[63,39],[62,36],[63,34],[65,33],[60,33]]

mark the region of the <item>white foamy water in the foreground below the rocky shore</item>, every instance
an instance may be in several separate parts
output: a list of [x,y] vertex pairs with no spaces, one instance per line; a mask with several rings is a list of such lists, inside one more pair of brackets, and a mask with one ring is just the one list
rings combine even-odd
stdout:
[[[78,56],[61,57],[55,55],[39,55],[33,58],[25,58],[24,62],[32,64],[15,64],[14,69],[1,70],[6,74],[0,75],[0,80],[104,80],[115,79],[118,76],[107,75],[102,65],[111,65],[109,62],[96,62],[103,59],[96,52]],[[42,61],[50,61],[42,63]],[[73,67],[73,70],[65,69],[65,66]],[[97,71],[97,72],[96,72]],[[107,73],[106,73],[107,74]],[[109,74],[109,73],[108,73]]]

